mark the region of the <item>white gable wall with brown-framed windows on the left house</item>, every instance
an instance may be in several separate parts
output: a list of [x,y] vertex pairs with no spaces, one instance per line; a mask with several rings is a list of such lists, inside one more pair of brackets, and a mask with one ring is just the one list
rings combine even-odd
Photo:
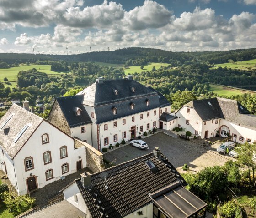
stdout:
[[[49,143],[42,144],[41,136],[44,133],[48,133]],[[60,159],[59,149],[64,145],[67,146],[68,157]],[[52,162],[44,165],[43,153],[46,151],[51,152]],[[30,156],[33,157],[34,169],[26,172],[24,159]],[[81,156],[81,159],[78,156]],[[19,194],[27,193],[26,179],[30,177],[31,173],[37,177],[37,188],[42,188],[58,180],[61,176],[76,172],[76,161],[80,160],[83,165],[86,163],[85,147],[74,150],[74,139],[43,121],[14,158]],[[61,165],[64,163],[69,164],[69,172],[62,174]],[[53,170],[53,179],[46,181],[45,172],[48,169]]]

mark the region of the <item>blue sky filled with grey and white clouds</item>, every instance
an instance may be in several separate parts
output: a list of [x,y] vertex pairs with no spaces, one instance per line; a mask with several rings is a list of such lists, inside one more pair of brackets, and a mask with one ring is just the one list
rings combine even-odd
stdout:
[[[0,0],[0,52],[256,47],[256,0]],[[91,48],[91,49],[90,49]]]

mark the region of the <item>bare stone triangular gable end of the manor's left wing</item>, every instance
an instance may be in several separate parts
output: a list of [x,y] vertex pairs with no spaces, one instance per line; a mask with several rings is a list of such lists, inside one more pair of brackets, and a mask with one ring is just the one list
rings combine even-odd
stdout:
[[71,135],[69,124],[66,121],[66,118],[64,117],[64,114],[61,111],[57,101],[54,102],[53,108],[48,117],[48,121],[63,132],[67,133],[69,136]]

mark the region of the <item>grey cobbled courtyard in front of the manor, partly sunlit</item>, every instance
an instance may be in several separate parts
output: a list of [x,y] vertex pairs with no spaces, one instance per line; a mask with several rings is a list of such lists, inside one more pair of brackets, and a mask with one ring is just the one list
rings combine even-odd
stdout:
[[194,140],[186,141],[181,138],[173,138],[164,133],[158,133],[143,140],[148,143],[149,150],[139,150],[136,147],[127,145],[108,152],[103,157],[110,162],[116,158],[117,161],[114,164],[117,165],[153,152],[155,147],[159,147],[160,151],[179,172],[181,172],[181,167],[185,163],[192,171],[197,172],[204,167],[223,165],[229,159],[233,159],[228,154],[218,154],[216,152],[218,144],[202,147],[195,143],[196,141],[193,142]]

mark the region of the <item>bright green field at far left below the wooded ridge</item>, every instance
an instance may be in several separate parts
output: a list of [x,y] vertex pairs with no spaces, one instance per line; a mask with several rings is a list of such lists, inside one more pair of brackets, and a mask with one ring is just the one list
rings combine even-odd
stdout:
[[65,72],[55,72],[51,71],[51,65],[24,65],[24,66],[16,66],[11,67],[9,69],[0,69],[0,81],[3,82],[4,78],[6,77],[9,81],[15,81],[11,82],[11,85],[6,85],[5,87],[16,87],[16,81],[17,81],[17,74],[20,71],[27,71],[32,68],[37,69],[37,71],[47,73],[48,76],[60,76],[61,74],[64,74]]

